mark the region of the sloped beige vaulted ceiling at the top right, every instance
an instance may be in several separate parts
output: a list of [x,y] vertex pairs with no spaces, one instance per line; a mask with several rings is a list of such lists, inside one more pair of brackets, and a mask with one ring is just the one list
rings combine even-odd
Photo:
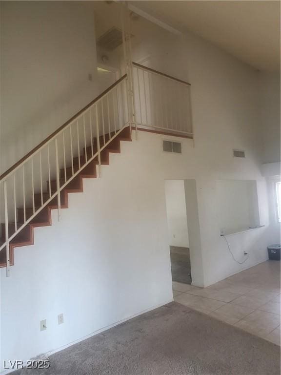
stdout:
[[280,69],[280,1],[131,1],[182,33],[213,42],[259,70]]

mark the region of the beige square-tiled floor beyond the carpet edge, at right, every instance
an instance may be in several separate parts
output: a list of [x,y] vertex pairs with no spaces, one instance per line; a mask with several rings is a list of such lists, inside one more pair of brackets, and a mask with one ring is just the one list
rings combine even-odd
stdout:
[[263,262],[207,288],[173,282],[174,300],[280,345],[280,262]]

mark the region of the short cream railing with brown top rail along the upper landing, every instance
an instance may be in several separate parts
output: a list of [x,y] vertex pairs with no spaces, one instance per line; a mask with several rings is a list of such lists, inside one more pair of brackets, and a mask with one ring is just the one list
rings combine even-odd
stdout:
[[136,125],[192,138],[190,83],[132,65]]

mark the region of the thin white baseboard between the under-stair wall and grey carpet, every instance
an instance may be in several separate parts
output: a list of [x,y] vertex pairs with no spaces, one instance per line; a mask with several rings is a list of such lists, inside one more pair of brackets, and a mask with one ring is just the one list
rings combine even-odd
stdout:
[[[40,355],[38,355],[38,356],[36,356],[36,357],[34,357],[34,358],[31,358],[31,359],[44,359],[44,358],[47,358],[47,357],[49,357],[49,356],[52,355],[52,354],[58,353],[58,352],[60,352],[61,350],[70,347],[71,345],[78,344],[79,342],[81,342],[81,341],[83,341],[83,340],[85,340],[85,339],[87,339],[87,338],[90,338],[90,337],[96,336],[96,335],[99,334],[99,333],[102,333],[102,332],[104,332],[104,331],[106,331],[106,330],[109,330],[110,328],[113,328],[113,327],[115,327],[115,326],[118,326],[119,324],[124,323],[124,322],[126,322],[126,321],[128,321],[128,320],[130,320],[130,319],[133,319],[133,318],[135,318],[135,317],[137,317],[137,316],[139,316],[139,315],[141,315],[141,314],[144,314],[145,312],[150,312],[150,311],[152,311],[152,310],[158,309],[158,308],[161,307],[161,306],[167,305],[167,304],[170,303],[170,302],[174,302],[174,300],[173,300],[173,299],[169,299],[168,301],[165,301],[165,302],[163,302],[163,303],[161,303],[161,304],[154,305],[154,306],[152,306],[152,307],[150,307],[150,308],[148,308],[148,309],[145,309],[145,310],[142,310],[142,311],[140,311],[140,312],[137,312],[136,314],[130,315],[130,316],[128,316],[127,318],[121,319],[121,320],[119,320],[119,321],[117,321],[117,322],[115,322],[115,323],[112,323],[112,324],[108,325],[108,326],[102,327],[102,328],[100,328],[100,329],[97,330],[97,331],[94,331],[94,332],[92,332],[92,333],[87,334],[86,336],[80,337],[80,338],[78,338],[77,340],[71,341],[70,343],[68,343],[68,344],[66,344],[66,345],[60,346],[59,348],[56,348],[56,349],[52,349],[52,350],[50,350],[50,351],[47,352],[47,353],[40,354]],[[23,362],[23,366],[26,366],[27,361],[28,361],[28,359],[27,359],[26,361]],[[4,370],[4,371],[1,371],[0,374],[1,374],[1,375],[5,375],[5,374],[12,373],[12,372],[14,372],[14,371],[16,371],[16,370],[17,370],[17,369],[7,369],[7,370]]]

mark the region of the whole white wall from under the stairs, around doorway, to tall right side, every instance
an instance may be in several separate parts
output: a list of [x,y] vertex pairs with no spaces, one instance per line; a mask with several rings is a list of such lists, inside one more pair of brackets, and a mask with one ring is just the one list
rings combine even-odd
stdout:
[[[164,180],[189,180],[185,190],[197,196],[186,200],[198,223],[190,226],[187,217],[195,285],[267,259],[272,227],[260,170],[258,72],[191,35],[151,35],[138,49],[140,57],[149,54],[153,67],[191,82],[195,145],[183,139],[175,158],[162,152],[161,135],[140,131],[137,142],[111,155],[100,180],[85,181],[85,192],[70,196],[59,223],[53,212],[52,227],[35,229],[35,245],[15,250],[11,277],[0,270],[1,364],[58,349],[172,299]],[[233,158],[233,148],[245,149],[246,158]],[[243,265],[220,237],[216,180],[227,179],[257,181],[265,227],[229,241],[237,259],[249,253]],[[40,332],[44,318],[48,328]]]

